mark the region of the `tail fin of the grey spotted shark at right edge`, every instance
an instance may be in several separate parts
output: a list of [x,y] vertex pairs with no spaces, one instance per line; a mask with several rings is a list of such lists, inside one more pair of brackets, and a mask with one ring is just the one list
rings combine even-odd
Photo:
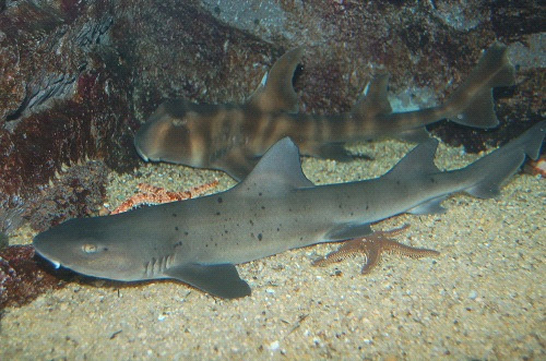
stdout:
[[546,121],[542,121],[507,145],[494,151],[464,169],[476,176],[476,181],[465,189],[468,194],[489,198],[499,193],[500,185],[512,176],[525,160],[525,156],[537,159],[546,135]]

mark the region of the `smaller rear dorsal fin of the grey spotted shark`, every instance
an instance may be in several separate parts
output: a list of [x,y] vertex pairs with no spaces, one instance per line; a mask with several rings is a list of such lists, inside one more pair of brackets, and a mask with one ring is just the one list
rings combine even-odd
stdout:
[[437,147],[438,141],[435,139],[429,139],[426,142],[423,142],[413,148],[383,177],[404,180],[439,172],[440,170],[435,165],[435,154]]

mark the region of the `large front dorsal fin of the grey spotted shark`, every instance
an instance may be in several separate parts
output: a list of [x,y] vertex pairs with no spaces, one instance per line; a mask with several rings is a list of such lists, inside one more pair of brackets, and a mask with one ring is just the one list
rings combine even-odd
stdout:
[[276,142],[237,185],[241,195],[277,195],[289,190],[313,186],[301,170],[299,149],[289,137]]

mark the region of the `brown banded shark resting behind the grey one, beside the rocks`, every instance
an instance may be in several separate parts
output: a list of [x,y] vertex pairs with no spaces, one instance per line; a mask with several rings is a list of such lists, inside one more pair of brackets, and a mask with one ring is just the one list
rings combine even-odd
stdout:
[[236,180],[248,176],[265,151],[285,136],[302,155],[347,161],[353,157],[344,143],[382,136],[422,142],[428,137],[425,125],[446,118],[462,125],[494,128],[498,119],[491,89],[514,84],[507,48],[496,43],[437,107],[393,112],[387,97],[389,76],[382,74],[347,112],[301,113],[293,76],[302,55],[301,47],[283,55],[242,105],[163,103],[135,133],[136,152],[145,161],[223,170]]

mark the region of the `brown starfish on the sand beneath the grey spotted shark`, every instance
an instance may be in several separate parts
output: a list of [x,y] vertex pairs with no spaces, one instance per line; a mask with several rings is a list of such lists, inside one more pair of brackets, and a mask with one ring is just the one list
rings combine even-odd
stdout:
[[363,275],[369,274],[381,262],[381,253],[397,253],[412,258],[439,255],[440,252],[428,249],[418,249],[405,245],[392,240],[389,237],[396,236],[407,229],[410,225],[404,225],[389,231],[376,231],[370,236],[355,238],[343,243],[337,251],[329,253],[325,257],[317,260],[313,266],[327,266],[341,262],[347,257],[364,253],[365,263],[361,269]]

